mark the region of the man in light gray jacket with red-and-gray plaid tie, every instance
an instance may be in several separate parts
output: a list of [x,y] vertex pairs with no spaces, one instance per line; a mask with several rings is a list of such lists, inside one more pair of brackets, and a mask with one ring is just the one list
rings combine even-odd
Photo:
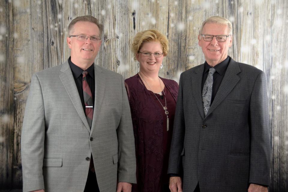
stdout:
[[124,79],[94,64],[102,29],[92,16],[73,19],[71,57],[32,76],[21,135],[23,191],[130,192],[136,183]]

